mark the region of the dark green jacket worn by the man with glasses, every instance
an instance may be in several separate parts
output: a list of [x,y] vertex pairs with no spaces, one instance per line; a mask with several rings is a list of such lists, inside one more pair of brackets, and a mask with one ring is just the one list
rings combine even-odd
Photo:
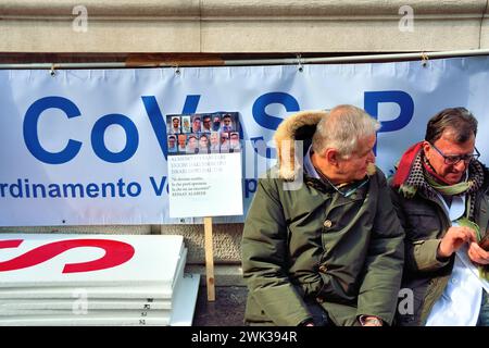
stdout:
[[[475,223],[482,234],[488,231],[488,189],[489,172],[485,167],[484,185],[477,192],[475,202]],[[437,258],[438,245],[452,223],[444,212],[443,203],[426,197],[419,190],[408,199],[399,192],[399,188],[391,187],[391,199],[405,231],[405,262],[401,287],[411,289],[414,300],[413,306],[406,306],[398,313],[397,323],[402,326],[425,325],[452,273],[455,254],[448,260]]]

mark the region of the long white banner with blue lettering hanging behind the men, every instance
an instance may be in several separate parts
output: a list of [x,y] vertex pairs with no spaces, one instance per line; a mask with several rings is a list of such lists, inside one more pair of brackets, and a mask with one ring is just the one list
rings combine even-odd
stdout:
[[[168,215],[166,116],[239,116],[243,215],[275,163],[278,124],[350,103],[381,123],[377,165],[389,175],[441,109],[465,107],[489,151],[489,58],[334,65],[0,71],[0,225],[200,223]],[[188,119],[190,121],[191,119]],[[187,121],[184,116],[181,122]],[[184,125],[181,125],[184,126]],[[180,128],[181,129],[181,128]],[[230,134],[230,133],[229,133]],[[259,151],[261,147],[263,151]],[[220,197],[222,204],[231,199]]]

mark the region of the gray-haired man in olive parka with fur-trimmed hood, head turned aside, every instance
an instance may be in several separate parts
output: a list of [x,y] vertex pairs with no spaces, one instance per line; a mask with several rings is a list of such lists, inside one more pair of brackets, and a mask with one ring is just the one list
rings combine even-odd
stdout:
[[[392,323],[404,232],[374,165],[378,128],[353,105],[300,112],[279,125],[277,167],[259,179],[244,223],[247,324]],[[285,185],[298,179],[294,189]]]

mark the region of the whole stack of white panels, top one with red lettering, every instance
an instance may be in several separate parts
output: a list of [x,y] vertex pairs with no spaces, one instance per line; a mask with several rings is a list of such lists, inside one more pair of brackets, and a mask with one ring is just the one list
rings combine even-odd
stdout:
[[191,325],[181,236],[0,234],[0,325]]

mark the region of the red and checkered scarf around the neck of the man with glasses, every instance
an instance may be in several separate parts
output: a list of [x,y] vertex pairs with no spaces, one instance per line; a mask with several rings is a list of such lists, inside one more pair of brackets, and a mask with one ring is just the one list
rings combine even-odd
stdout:
[[[422,144],[414,145],[402,156],[392,186],[398,187],[405,198],[412,198],[419,190],[429,199],[436,199],[437,189],[428,182],[437,181],[437,175],[425,159]],[[471,220],[474,217],[475,195],[482,184],[484,166],[479,161],[472,161],[468,165],[467,181],[462,185],[456,184],[460,187],[453,189],[453,196],[467,195],[469,206],[467,207],[467,216]],[[444,187],[450,188],[450,186]],[[443,192],[443,195],[447,195],[447,192]]]

